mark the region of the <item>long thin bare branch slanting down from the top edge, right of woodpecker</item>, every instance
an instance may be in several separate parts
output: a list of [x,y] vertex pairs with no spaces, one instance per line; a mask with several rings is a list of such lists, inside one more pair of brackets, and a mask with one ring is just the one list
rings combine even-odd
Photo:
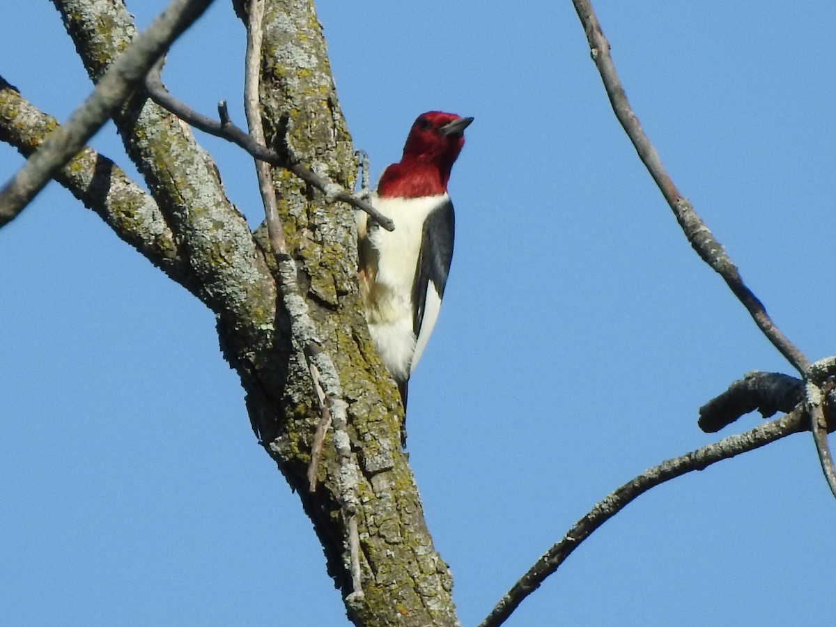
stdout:
[[793,367],[798,370],[801,375],[807,371],[810,362],[804,354],[787,339],[781,330],[769,318],[763,304],[757,299],[752,291],[743,283],[743,279],[737,270],[737,267],[732,263],[732,260],[726,255],[720,242],[717,242],[711,231],[706,227],[705,222],[694,212],[694,207],[691,206],[680,191],[676,188],[674,182],[671,180],[665,166],[659,159],[654,146],[645,135],[639,124],[639,119],[630,109],[630,103],[627,101],[627,95],[624,93],[624,87],[621,85],[618,74],[615,72],[615,65],[612,57],[609,55],[609,43],[604,38],[604,33],[601,31],[601,26],[598,18],[592,8],[589,0],[572,0],[575,10],[578,12],[580,22],[584,26],[584,32],[589,41],[589,48],[592,53],[592,59],[595,66],[598,68],[601,79],[604,81],[604,89],[609,96],[609,102],[612,104],[615,117],[618,118],[630,141],[633,142],[636,152],[645,167],[650,172],[650,176],[659,186],[662,195],[665,196],[665,201],[670,205],[679,222],[680,227],[685,232],[688,241],[691,242],[691,247],[711,268],[719,273],[732,293],[737,296],[743,306],[747,308],[752,319],[755,320],[758,328],[763,334],[767,336],[770,342],[777,348],[780,353],[793,364]]

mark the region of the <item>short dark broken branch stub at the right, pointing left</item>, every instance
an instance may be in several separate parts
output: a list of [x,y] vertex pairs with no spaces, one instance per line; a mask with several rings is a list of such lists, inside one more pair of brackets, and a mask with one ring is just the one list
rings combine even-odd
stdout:
[[700,408],[697,424],[706,433],[731,425],[742,415],[760,410],[764,418],[788,412],[803,399],[802,380],[777,372],[749,372]]

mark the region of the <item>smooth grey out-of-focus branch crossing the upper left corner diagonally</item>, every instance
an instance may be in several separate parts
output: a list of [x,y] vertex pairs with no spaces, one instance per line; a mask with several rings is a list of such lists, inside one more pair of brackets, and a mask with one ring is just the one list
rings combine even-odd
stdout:
[[101,128],[151,65],[191,23],[201,16],[212,0],[172,0],[155,20],[116,59],[96,85],[93,93],[75,110],[69,122],[32,155],[0,191],[0,227],[23,211],[56,171],[64,166],[87,140]]

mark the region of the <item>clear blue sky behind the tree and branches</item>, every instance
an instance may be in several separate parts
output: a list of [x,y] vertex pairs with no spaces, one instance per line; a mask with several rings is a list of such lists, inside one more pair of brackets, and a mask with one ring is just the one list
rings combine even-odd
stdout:
[[[59,14],[7,4],[0,73],[65,120],[90,85]],[[145,25],[164,4],[129,8]],[[836,352],[836,4],[595,8],[681,191],[788,337]],[[426,517],[476,624],[608,492],[760,420],[702,434],[706,400],[791,370],[691,251],[568,0],[332,0],[319,18],[375,175],[422,111],[476,118],[409,417]],[[210,115],[228,99],[242,123],[243,34],[215,3],[166,84]],[[198,135],[259,222],[252,161]],[[92,143],[128,165],[112,126]],[[0,146],[0,180],[21,163]],[[206,308],[56,184],[0,231],[0,293],[0,624],[347,624]],[[825,624],[834,512],[811,436],[790,437],[640,497],[507,624]]]

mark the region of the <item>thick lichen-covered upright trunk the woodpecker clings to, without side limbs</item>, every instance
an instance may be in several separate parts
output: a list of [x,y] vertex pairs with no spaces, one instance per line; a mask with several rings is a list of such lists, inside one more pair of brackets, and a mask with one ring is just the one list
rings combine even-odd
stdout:
[[[334,91],[324,38],[313,3],[267,0],[263,23],[261,81],[265,144],[287,145],[311,169],[353,189],[356,161]],[[343,590],[349,618],[358,625],[455,625],[451,576],[436,553],[423,518],[421,500],[400,451],[400,403],[366,328],[357,291],[354,212],[323,196],[292,173],[273,169],[279,192],[278,213],[288,252],[307,290],[318,345],[339,374],[346,405],[349,441],[325,446],[316,492],[306,489],[308,464],[319,423],[319,401],[312,398],[310,372],[303,359],[291,361],[288,399],[307,395],[308,421],[278,427],[268,450],[299,497],[329,559],[329,571]],[[318,363],[320,376],[325,372]],[[326,388],[327,389],[327,388]],[[297,401],[298,402],[298,401]],[[337,420],[334,414],[334,420]],[[299,427],[303,426],[303,429]],[[336,424],[335,424],[336,426]],[[337,437],[340,427],[334,429]],[[339,452],[349,446],[357,456],[360,509],[358,527],[364,596],[357,599],[347,557],[344,519],[339,516]],[[348,449],[343,449],[348,451]],[[352,519],[349,518],[349,525]]]

